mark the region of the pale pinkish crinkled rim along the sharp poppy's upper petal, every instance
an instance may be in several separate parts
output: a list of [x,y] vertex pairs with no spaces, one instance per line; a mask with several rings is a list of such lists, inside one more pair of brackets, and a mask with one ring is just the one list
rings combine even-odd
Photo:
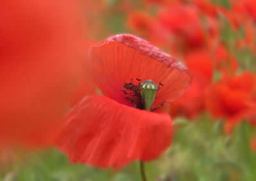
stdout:
[[177,61],[177,59],[173,58],[173,56],[170,56],[166,52],[161,51],[157,47],[154,47],[149,42],[147,42],[146,40],[143,40],[142,38],[139,38],[138,36],[134,36],[130,34],[120,34],[120,35],[111,36],[108,39],[98,43],[98,45],[95,45],[95,47],[102,46],[109,42],[122,43],[125,46],[131,47],[135,51],[138,51],[140,54],[143,54],[150,58],[156,59],[161,63],[164,63],[166,67],[176,68],[180,72],[184,74],[188,74],[191,77],[191,74],[189,73],[188,68],[185,67],[181,62]]

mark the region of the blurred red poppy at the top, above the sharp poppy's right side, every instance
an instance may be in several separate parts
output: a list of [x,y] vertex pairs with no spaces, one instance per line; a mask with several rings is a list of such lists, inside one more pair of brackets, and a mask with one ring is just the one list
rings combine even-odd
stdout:
[[196,6],[173,3],[159,10],[158,19],[180,42],[182,49],[205,45],[204,29]]

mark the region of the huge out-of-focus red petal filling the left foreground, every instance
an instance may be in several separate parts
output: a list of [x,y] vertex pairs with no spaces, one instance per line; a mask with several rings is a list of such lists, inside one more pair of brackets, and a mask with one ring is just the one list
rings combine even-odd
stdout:
[[1,141],[47,145],[54,138],[86,57],[76,3],[1,3]]

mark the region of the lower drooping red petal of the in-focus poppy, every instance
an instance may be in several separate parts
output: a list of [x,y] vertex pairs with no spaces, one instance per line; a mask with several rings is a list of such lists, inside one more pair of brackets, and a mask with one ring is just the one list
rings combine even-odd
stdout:
[[92,95],[68,114],[58,146],[74,163],[104,168],[121,167],[137,159],[156,159],[171,140],[172,120],[168,114]]

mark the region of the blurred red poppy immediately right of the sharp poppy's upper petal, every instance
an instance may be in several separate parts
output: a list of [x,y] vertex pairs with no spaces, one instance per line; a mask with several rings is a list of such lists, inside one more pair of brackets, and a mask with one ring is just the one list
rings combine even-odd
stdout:
[[212,60],[208,50],[193,51],[185,56],[186,66],[193,75],[191,86],[184,95],[172,102],[172,116],[195,118],[204,111],[205,90],[212,83]]

